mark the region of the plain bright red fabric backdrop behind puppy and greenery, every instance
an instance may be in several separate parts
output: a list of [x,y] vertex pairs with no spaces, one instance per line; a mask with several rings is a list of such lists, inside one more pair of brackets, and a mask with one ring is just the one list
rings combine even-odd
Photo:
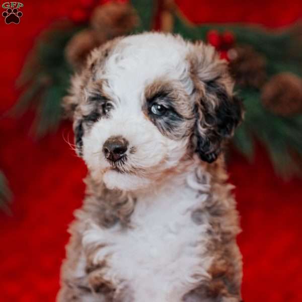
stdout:
[[[1,2],[1,4],[4,1]],[[38,33],[78,1],[24,1],[19,25],[0,19],[0,112],[16,101],[14,81]],[[194,22],[250,22],[268,27],[302,17],[300,0],[177,0]],[[2,18],[2,17],[0,17]],[[86,168],[58,132],[35,141],[32,116],[0,121],[0,168],[14,192],[13,216],[0,213],[0,301],[54,301],[72,211],[81,205]],[[302,301],[302,182],[277,178],[261,147],[255,164],[235,154],[231,181],[241,213],[239,245],[244,258],[245,301]]]

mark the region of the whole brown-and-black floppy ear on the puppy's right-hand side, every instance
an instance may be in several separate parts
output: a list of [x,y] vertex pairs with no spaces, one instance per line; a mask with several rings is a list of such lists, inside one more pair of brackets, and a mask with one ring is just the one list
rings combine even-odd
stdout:
[[193,143],[200,159],[212,163],[242,120],[242,102],[233,95],[227,62],[211,46],[194,45],[190,63],[196,91]]

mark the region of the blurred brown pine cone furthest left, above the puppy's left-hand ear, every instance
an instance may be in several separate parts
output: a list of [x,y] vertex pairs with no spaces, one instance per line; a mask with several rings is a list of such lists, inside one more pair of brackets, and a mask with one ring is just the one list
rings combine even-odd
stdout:
[[106,41],[105,34],[93,30],[83,30],[74,35],[65,48],[67,61],[75,68],[79,68],[90,51]]

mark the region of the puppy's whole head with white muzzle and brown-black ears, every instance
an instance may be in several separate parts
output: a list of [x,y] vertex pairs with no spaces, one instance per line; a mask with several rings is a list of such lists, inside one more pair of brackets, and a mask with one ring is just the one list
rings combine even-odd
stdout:
[[64,106],[92,177],[135,190],[217,158],[241,118],[232,89],[211,47],[149,33],[94,50]]

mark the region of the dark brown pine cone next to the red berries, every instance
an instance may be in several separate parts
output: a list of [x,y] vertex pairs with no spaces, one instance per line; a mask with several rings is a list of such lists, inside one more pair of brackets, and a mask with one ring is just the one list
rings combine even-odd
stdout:
[[266,80],[265,58],[251,46],[237,46],[228,52],[230,71],[237,84],[260,88]]

